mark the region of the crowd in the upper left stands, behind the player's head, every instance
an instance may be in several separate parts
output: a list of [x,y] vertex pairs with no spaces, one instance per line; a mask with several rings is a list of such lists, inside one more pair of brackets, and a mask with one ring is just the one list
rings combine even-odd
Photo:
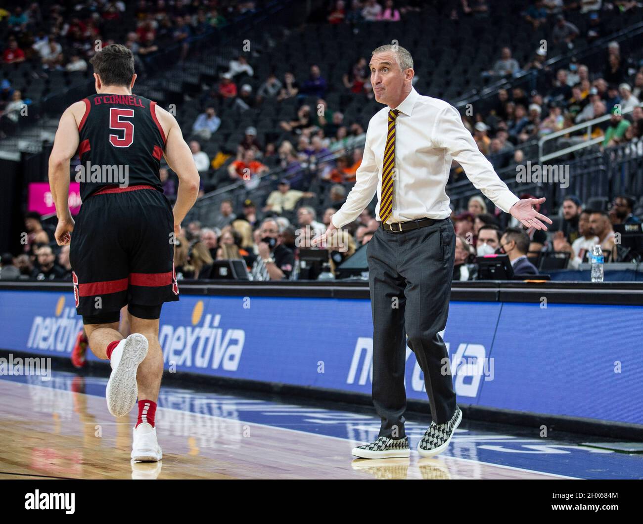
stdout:
[[[53,71],[86,75],[89,59],[101,46],[123,43],[134,53],[136,70],[145,71],[143,58],[150,53],[181,46],[182,57],[190,39],[215,32],[229,19],[253,12],[255,1],[139,0],[129,6],[122,0],[77,2],[46,1],[5,9],[0,6],[0,60],[9,66],[33,66],[30,75],[48,79]],[[134,4],[136,5],[135,7]],[[89,68],[91,69],[91,68]],[[12,77],[1,80],[0,137],[17,122],[17,112],[42,96],[40,82],[26,93],[12,86]],[[64,84],[57,84],[60,88]],[[33,91],[33,92],[30,92]]]

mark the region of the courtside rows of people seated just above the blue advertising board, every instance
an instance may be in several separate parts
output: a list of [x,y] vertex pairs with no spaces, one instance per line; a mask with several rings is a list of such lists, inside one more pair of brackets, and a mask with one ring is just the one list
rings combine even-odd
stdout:
[[[251,280],[308,278],[302,273],[301,250],[311,248],[311,239],[325,231],[332,214],[343,203],[343,186],[333,187],[337,193],[321,216],[305,204],[312,195],[292,189],[287,179],[280,181],[278,190],[269,196],[263,208],[247,199],[240,210],[235,210],[232,201],[222,201],[213,224],[204,226],[192,221],[181,229],[174,251],[177,278],[208,280],[212,278],[215,260],[244,260]],[[577,197],[570,195],[563,201],[557,227],[545,233],[526,230],[513,218],[501,224],[498,217],[487,212],[482,197],[471,197],[467,211],[451,215],[456,232],[453,279],[474,280],[475,258],[492,253],[508,255],[514,275],[519,276],[543,273],[539,266],[548,253],[567,253],[565,267],[578,269],[588,262],[597,244],[606,262],[626,260],[627,250],[620,247],[614,226],[641,224],[635,206],[633,197],[619,195],[607,206],[608,210],[605,206],[585,208]],[[69,246],[57,246],[53,226],[43,227],[40,215],[34,212],[25,215],[24,226],[23,252],[2,255],[0,279],[71,280]],[[333,242],[324,246],[328,251],[328,270],[336,274],[341,262],[367,244],[378,227],[370,208],[347,224]]]

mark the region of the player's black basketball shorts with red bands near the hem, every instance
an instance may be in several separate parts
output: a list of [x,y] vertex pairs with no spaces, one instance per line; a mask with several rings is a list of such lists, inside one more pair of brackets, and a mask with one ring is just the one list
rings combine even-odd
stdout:
[[80,206],[69,246],[77,313],[179,300],[173,239],[172,208],[152,186],[90,195]]

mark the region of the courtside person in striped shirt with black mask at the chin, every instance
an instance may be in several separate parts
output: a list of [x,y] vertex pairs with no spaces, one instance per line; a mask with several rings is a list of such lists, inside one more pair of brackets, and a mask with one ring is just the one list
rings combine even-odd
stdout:
[[251,272],[253,280],[287,279],[293,271],[294,255],[291,249],[278,243],[278,223],[275,219],[266,219],[259,231],[258,257]]

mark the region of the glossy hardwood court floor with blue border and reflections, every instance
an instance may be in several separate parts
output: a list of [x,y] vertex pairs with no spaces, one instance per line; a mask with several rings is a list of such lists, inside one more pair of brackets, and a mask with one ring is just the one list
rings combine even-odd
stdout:
[[[355,459],[352,447],[377,436],[371,414],[169,387],[156,415],[163,461],[132,463],[136,413],[109,415],[106,383],[2,377],[0,478],[643,478],[643,455],[577,444],[592,437],[467,420],[435,458]],[[426,426],[407,422],[412,449]]]

